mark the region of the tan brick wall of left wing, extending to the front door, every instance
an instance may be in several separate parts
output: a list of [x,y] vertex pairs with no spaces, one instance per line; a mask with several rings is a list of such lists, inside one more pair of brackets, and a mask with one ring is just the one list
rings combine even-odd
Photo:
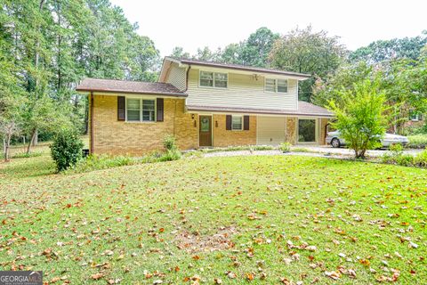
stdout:
[[[181,150],[198,146],[197,116],[184,113],[183,99],[165,98],[163,122],[117,120],[117,96],[93,97],[93,152],[142,155],[163,150],[163,139],[174,134]],[[196,125],[195,125],[196,124]]]

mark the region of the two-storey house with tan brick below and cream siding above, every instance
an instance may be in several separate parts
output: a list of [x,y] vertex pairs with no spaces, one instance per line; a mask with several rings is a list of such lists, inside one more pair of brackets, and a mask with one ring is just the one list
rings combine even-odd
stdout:
[[308,75],[166,57],[157,83],[86,78],[91,153],[325,143],[328,110],[298,101]]

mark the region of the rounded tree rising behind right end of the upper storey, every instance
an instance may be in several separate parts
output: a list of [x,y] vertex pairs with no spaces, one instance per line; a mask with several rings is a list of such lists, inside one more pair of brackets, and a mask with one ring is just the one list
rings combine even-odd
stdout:
[[312,77],[302,81],[299,88],[300,99],[310,102],[316,77],[325,78],[344,61],[346,50],[338,40],[339,37],[328,37],[324,30],[313,32],[311,26],[295,28],[274,43],[271,66],[310,74]]

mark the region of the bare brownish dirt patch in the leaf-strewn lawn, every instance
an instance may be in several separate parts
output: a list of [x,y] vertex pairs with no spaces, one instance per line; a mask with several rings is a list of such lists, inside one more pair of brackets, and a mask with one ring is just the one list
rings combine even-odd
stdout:
[[178,248],[189,253],[227,250],[234,247],[230,239],[237,232],[234,226],[222,227],[213,235],[184,231],[175,236],[175,242]]

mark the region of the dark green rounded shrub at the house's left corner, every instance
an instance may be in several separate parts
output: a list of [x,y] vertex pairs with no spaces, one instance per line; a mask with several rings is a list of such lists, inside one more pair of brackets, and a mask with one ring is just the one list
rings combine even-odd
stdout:
[[83,142],[76,131],[62,130],[55,134],[51,145],[52,159],[58,171],[75,166],[82,157]]

